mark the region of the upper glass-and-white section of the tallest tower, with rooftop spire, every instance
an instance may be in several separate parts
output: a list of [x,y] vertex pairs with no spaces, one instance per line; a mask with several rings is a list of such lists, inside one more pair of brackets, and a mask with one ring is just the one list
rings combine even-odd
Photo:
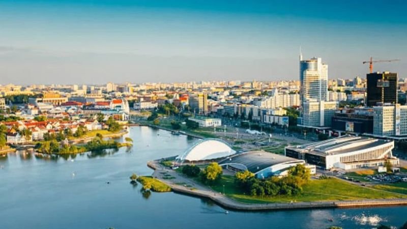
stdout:
[[[300,55],[302,59],[302,55]],[[300,60],[301,101],[327,101],[328,65],[321,58]]]

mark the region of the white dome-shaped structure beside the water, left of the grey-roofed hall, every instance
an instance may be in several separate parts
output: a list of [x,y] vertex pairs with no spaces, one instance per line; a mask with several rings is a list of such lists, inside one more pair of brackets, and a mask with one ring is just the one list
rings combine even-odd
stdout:
[[226,141],[221,139],[209,138],[199,140],[184,154],[177,157],[177,160],[183,161],[205,161],[228,157],[236,154],[236,151],[231,149]]

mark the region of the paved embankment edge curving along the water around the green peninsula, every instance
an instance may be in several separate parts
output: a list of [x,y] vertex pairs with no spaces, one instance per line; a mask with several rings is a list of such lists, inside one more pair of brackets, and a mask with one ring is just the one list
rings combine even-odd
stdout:
[[[383,206],[405,206],[407,198],[397,199],[360,199],[356,201],[319,201],[319,202],[295,202],[295,203],[269,203],[269,204],[246,204],[237,202],[221,193],[202,189],[191,189],[170,180],[160,178],[159,173],[173,171],[163,168],[155,161],[149,161],[147,166],[154,169],[153,177],[171,187],[173,192],[211,199],[221,207],[239,211],[267,211],[267,210],[290,210],[290,209],[321,209],[321,208],[360,208],[360,207],[383,207]],[[197,184],[197,186],[200,186]],[[206,189],[206,190],[205,190]]]

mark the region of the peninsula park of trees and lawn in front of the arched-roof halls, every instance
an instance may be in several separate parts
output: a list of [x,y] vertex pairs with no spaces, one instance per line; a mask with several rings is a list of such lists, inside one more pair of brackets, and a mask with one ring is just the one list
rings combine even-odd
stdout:
[[287,176],[265,180],[255,178],[247,170],[240,171],[235,176],[223,175],[222,168],[215,162],[203,169],[185,165],[177,171],[242,203],[334,202],[407,197],[399,189],[404,188],[403,185],[371,188],[333,177],[311,179],[310,171],[304,165],[290,168]]

